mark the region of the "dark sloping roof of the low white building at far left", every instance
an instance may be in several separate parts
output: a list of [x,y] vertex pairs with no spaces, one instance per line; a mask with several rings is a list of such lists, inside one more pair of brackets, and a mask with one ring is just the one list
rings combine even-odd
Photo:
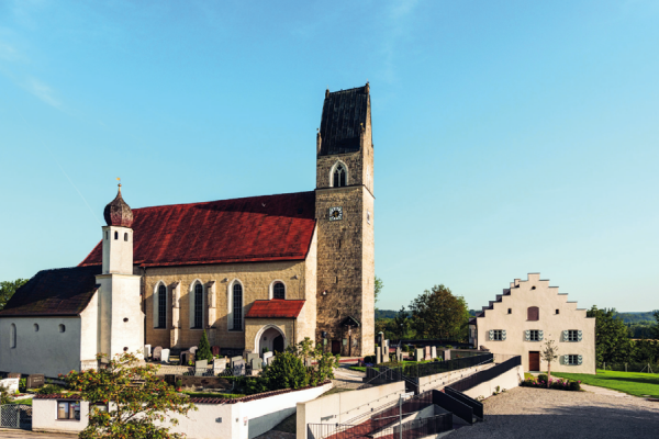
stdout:
[[100,273],[100,266],[40,271],[14,293],[0,317],[78,315],[97,291]]

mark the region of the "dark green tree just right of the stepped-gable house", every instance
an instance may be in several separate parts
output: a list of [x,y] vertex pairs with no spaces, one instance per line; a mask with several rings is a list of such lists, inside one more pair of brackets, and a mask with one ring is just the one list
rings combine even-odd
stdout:
[[632,351],[629,329],[622,319],[616,318],[615,308],[599,309],[593,305],[587,312],[587,316],[595,317],[597,364],[627,361]]

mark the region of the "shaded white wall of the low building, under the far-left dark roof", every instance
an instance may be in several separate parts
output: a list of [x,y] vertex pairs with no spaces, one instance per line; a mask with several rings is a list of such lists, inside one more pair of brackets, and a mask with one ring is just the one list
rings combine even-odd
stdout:
[[[10,327],[16,326],[15,348],[10,346]],[[34,325],[38,325],[38,331]],[[59,325],[65,331],[59,331]],[[43,373],[57,378],[80,369],[80,317],[0,318],[0,371]]]

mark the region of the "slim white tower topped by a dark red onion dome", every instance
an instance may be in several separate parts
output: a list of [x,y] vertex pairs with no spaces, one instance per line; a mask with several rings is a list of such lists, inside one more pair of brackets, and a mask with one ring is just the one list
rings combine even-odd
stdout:
[[99,289],[98,351],[113,357],[144,350],[144,314],[139,275],[133,274],[133,211],[121,195],[103,211],[103,263]]

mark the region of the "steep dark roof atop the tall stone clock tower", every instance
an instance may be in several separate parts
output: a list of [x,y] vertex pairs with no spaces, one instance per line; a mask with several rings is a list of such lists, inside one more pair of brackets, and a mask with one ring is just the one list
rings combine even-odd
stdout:
[[370,105],[368,87],[326,94],[321,117],[321,156],[359,150],[361,126]]

